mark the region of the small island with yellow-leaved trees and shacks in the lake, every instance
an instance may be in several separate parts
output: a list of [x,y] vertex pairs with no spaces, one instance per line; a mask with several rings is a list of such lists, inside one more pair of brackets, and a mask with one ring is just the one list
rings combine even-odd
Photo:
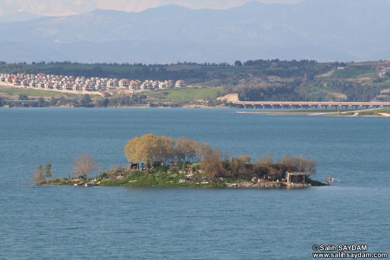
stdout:
[[[309,187],[327,185],[313,181],[316,160],[299,155],[285,156],[273,161],[267,154],[255,162],[247,155],[230,158],[208,143],[188,138],[146,134],[128,141],[125,155],[129,165],[101,169],[93,178],[95,160],[80,155],[73,164],[69,178],[50,180],[50,168],[39,166],[33,173],[37,184],[76,186],[133,186],[133,187]],[[46,177],[46,180],[44,180]]]

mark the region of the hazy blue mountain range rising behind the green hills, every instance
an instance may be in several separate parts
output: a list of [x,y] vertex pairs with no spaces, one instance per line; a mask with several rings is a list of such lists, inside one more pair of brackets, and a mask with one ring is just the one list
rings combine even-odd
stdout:
[[389,14],[387,0],[253,1],[227,10],[167,5],[138,13],[97,9],[0,23],[0,60],[390,60]]

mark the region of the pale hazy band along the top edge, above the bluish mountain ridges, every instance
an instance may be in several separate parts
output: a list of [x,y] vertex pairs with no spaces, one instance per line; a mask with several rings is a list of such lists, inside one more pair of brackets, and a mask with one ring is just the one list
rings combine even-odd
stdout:
[[[27,11],[41,16],[69,16],[95,9],[140,12],[148,8],[176,4],[191,9],[228,9],[250,0],[0,0],[0,16]],[[304,0],[260,0],[263,3],[294,4]]]

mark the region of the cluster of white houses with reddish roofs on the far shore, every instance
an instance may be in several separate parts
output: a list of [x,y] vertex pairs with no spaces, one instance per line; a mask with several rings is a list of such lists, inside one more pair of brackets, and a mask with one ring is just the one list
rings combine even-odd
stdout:
[[77,91],[103,91],[107,88],[127,88],[130,90],[151,90],[165,88],[179,88],[187,86],[186,81],[165,80],[153,81],[128,80],[128,79],[109,79],[109,78],[86,78],[61,75],[46,75],[43,73],[35,74],[0,74],[0,82],[10,83],[14,86],[24,86],[41,89],[55,90],[77,90]]

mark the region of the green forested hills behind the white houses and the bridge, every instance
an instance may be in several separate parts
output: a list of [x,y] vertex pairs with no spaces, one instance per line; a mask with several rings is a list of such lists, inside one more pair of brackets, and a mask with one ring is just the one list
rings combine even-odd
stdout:
[[0,73],[54,74],[129,80],[186,80],[194,87],[221,87],[217,96],[237,93],[240,100],[386,101],[390,94],[388,61],[361,63],[314,60],[247,60],[234,64],[79,64],[34,62],[3,64]]

